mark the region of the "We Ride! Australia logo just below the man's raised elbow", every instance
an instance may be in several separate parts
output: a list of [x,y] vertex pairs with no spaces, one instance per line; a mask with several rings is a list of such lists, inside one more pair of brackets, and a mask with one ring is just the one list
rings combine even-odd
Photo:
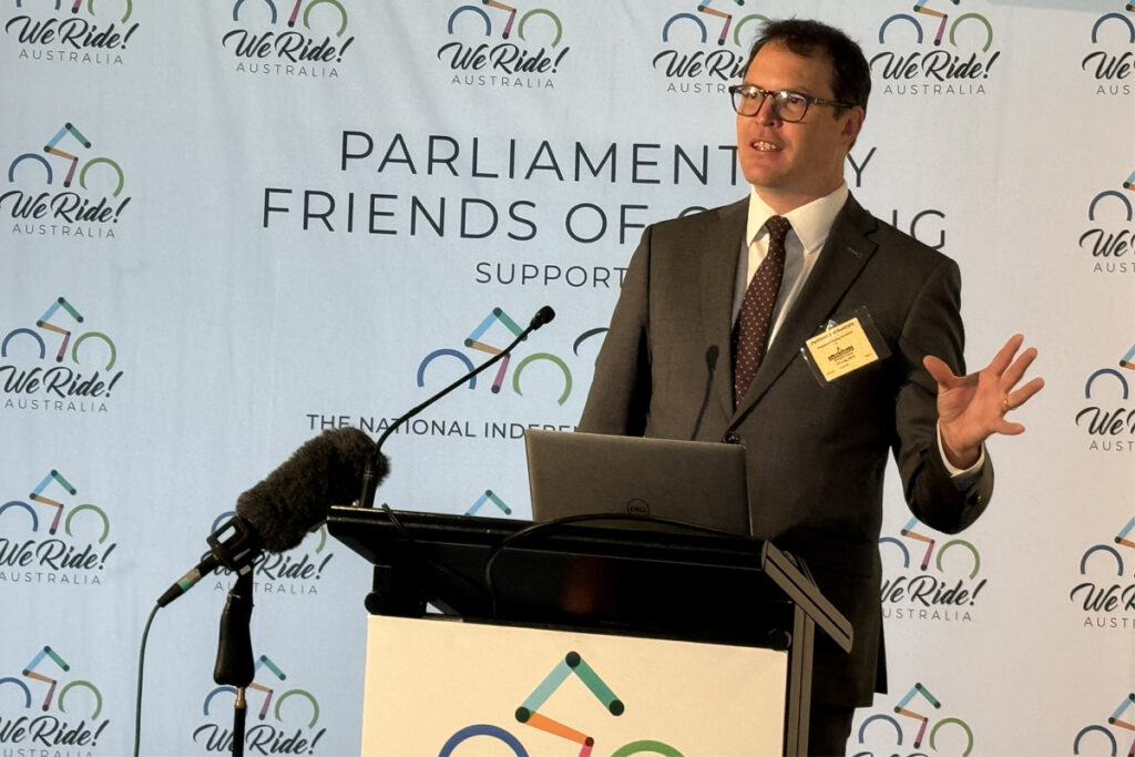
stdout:
[[897,537],[878,540],[885,577],[883,617],[918,622],[969,622],[987,579],[967,539],[945,538],[911,518]]

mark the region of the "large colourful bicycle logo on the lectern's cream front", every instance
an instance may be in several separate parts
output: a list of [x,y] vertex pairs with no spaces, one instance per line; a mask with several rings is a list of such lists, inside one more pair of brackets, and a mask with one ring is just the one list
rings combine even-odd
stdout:
[[[516,708],[516,721],[523,723],[524,725],[544,731],[545,733],[550,733],[552,735],[580,745],[580,757],[588,757],[595,749],[595,739],[592,737],[589,737],[582,731],[577,731],[569,725],[564,725],[563,723],[539,713],[539,708],[544,706],[544,703],[546,703],[548,698],[555,693],[560,685],[573,674],[583,683],[583,685],[587,687],[591,695],[599,700],[608,713],[615,717],[623,714],[623,703],[615,696],[614,691],[612,691],[603,679],[599,678],[598,673],[596,673],[591,666],[587,664],[579,653],[569,651],[564,655],[564,658],[552,668],[547,676],[540,681],[536,689],[532,690],[532,693],[528,695],[528,698],[524,699],[521,706]],[[438,751],[438,757],[451,757],[454,749],[474,737],[495,739],[512,749],[512,752],[516,757],[528,757],[529,755],[520,739],[507,730],[498,725],[479,723],[459,729],[457,732],[449,737],[449,739],[442,746],[442,749]],[[670,745],[651,739],[640,739],[623,745],[619,749],[611,752],[611,757],[629,757],[630,755],[639,754],[662,755],[663,757],[682,757],[682,752],[678,751]]]

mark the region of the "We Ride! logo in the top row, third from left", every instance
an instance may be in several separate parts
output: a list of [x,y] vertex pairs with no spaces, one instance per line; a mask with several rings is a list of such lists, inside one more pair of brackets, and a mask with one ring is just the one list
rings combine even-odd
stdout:
[[451,84],[553,90],[571,48],[555,10],[516,0],[453,3],[436,58]]

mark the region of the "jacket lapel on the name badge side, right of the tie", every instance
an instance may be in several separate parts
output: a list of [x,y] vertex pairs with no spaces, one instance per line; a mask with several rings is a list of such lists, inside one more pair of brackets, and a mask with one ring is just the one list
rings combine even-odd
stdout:
[[776,338],[760,363],[749,390],[737,407],[735,418],[746,414],[784,372],[804,346],[805,340],[834,313],[843,294],[875,252],[867,235],[877,221],[850,195],[832,224],[827,242],[819,252],[815,268],[781,325]]

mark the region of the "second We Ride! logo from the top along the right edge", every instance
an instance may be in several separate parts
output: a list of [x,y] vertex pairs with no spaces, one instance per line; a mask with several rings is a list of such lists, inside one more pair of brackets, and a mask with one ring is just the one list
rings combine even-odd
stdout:
[[1087,222],[1090,227],[1079,235],[1078,244],[1081,256],[1091,260],[1092,272],[1135,272],[1135,171],[1123,184],[1116,182],[1092,197]]

